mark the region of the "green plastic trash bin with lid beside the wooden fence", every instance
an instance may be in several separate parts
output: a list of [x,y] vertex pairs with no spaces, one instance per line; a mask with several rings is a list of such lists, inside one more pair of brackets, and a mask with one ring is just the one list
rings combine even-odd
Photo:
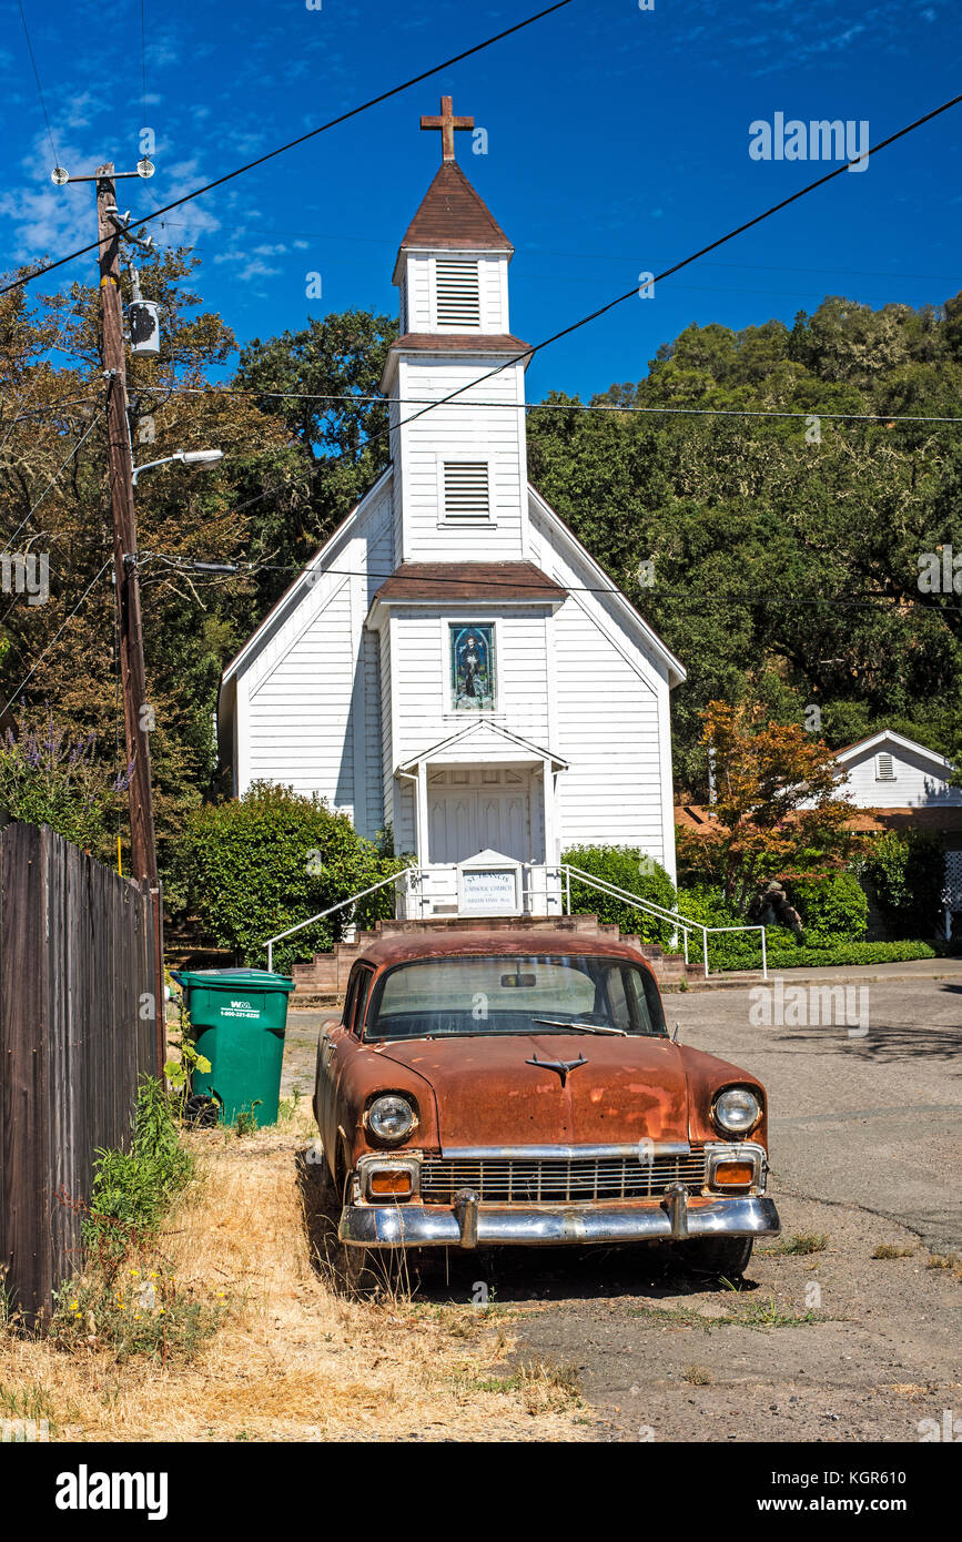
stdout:
[[194,1096],[220,1104],[220,1123],[234,1124],[253,1107],[257,1126],[278,1123],[281,1062],[287,1030],[287,975],[265,968],[171,970],[183,987],[197,1053],[211,1069],[194,1072]]

